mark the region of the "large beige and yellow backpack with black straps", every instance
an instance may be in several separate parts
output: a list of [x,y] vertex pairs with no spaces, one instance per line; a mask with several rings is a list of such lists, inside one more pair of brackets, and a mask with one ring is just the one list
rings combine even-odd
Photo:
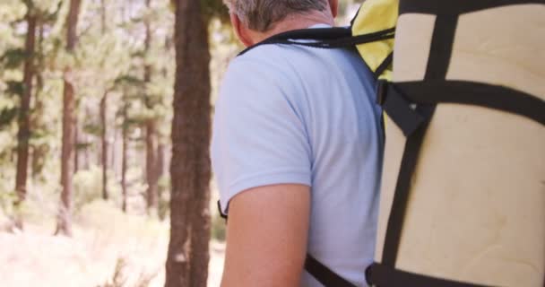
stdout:
[[[367,0],[348,29],[251,48],[267,44],[356,47],[376,76],[385,155],[369,285],[545,286],[545,0]],[[305,269],[355,286],[311,255]]]

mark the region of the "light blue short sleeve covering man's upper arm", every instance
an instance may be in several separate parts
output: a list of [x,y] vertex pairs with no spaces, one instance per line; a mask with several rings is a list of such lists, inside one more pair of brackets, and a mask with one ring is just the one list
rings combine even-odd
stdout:
[[311,185],[310,144],[300,107],[292,100],[300,90],[279,66],[245,58],[229,65],[211,147],[222,212],[249,188]]

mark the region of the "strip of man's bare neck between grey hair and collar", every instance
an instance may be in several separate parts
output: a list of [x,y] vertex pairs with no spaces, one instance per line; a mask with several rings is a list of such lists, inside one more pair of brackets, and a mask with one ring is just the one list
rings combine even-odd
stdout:
[[281,22],[275,23],[271,30],[267,30],[265,32],[253,32],[254,35],[252,36],[257,43],[285,31],[307,29],[308,27],[317,24],[333,26],[334,20],[329,10],[327,10],[327,12],[315,11],[311,13],[288,15]]

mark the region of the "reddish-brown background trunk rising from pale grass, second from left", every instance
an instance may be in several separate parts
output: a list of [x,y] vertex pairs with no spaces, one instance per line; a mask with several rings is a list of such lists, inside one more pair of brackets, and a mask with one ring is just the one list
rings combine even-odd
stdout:
[[[66,51],[74,53],[76,30],[81,0],[70,0],[70,10],[66,16]],[[75,91],[74,72],[70,66],[65,67],[65,90],[63,93],[63,143],[61,150],[61,205],[55,234],[72,236],[72,178],[74,172],[75,143]]]

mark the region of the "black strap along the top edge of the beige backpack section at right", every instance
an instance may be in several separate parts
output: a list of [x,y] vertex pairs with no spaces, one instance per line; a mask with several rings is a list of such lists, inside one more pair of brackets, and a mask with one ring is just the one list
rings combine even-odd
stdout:
[[399,13],[427,13],[437,15],[459,15],[484,9],[516,4],[545,4],[545,0],[478,0],[478,1],[437,1],[404,0],[400,1]]

